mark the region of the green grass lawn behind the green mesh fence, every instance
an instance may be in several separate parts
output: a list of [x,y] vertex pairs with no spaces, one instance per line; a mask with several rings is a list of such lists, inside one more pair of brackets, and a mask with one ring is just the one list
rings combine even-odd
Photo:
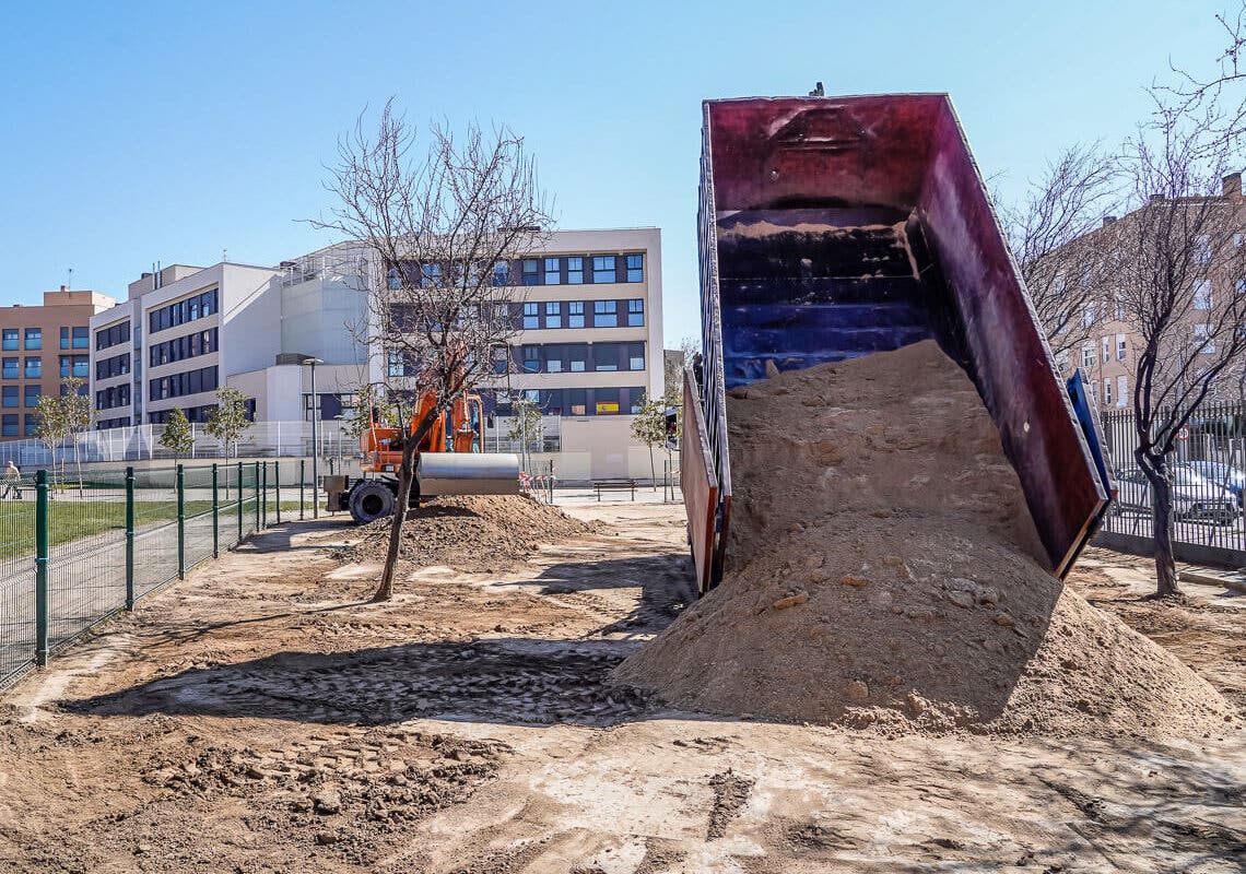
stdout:
[[[269,503],[268,519],[274,520],[275,503]],[[299,502],[283,500],[282,510],[298,512]],[[310,504],[308,504],[310,509]],[[186,515],[198,515],[212,510],[211,500],[187,500]],[[254,519],[254,504],[245,508]],[[226,505],[222,498],[221,525],[224,528],[237,517],[235,505]],[[51,547],[72,540],[126,528],[125,500],[50,500],[47,503],[49,535]],[[177,520],[176,500],[136,500],[135,528]],[[0,503],[0,560],[35,554],[35,502],[14,500]]]

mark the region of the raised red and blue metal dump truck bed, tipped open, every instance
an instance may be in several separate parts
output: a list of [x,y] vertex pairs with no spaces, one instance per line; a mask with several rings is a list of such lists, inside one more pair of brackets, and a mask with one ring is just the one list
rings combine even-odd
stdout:
[[768,365],[926,339],[974,381],[1050,569],[1068,571],[1110,493],[1094,417],[1060,382],[946,95],[706,101],[699,240],[704,362],[684,377],[680,481],[703,591],[730,525],[725,391]]

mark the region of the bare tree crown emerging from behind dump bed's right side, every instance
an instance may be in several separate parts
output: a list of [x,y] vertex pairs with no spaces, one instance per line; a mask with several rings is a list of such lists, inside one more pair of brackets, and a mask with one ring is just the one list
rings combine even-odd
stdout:
[[1058,357],[1085,345],[1110,304],[1106,253],[1088,234],[1119,205],[1115,181],[1111,156],[1098,146],[1073,146],[1048,163],[1022,203],[999,208],[1013,256]]

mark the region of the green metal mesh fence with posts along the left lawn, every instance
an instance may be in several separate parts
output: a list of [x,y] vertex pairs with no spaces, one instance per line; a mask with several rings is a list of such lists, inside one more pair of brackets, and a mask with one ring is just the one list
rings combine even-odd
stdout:
[[0,481],[0,686],[201,562],[304,518],[307,469],[295,458]]

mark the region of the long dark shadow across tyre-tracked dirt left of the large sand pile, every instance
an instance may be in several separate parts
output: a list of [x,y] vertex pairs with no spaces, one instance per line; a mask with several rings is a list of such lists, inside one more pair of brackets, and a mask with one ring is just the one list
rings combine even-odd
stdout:
[[341,725],[417,717],[611,725],[652,711],[643,693],[609,681],[609,672],[634,646],[507,637],[279,652],[191,669],[60,706],[96,716],[207,715]]

